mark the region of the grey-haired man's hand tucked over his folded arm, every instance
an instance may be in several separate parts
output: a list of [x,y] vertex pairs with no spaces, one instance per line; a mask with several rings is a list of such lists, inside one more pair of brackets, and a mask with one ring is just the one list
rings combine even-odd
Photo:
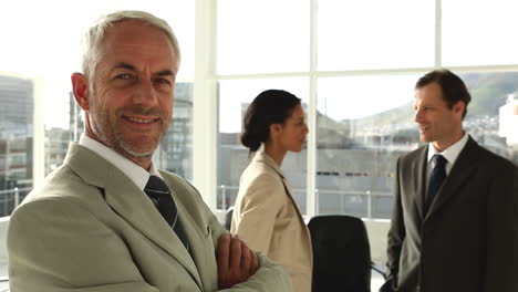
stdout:
[[247,281],[259,268],[257,254],[237,234],[231,238],[226,233],[219,238],[216,260],[219,289]]

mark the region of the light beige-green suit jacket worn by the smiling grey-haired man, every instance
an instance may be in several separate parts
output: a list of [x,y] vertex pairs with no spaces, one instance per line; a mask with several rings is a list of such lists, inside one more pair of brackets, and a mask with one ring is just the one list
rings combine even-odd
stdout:
[[[123,171],[71,144],[63,166],[11,217],[11,291],[217,291],[215,249],[225,230],[193,186],[160,175],[173,191],[190,254]],[[248,282],[226,291],[291,290],[280,265],[259,259]]]

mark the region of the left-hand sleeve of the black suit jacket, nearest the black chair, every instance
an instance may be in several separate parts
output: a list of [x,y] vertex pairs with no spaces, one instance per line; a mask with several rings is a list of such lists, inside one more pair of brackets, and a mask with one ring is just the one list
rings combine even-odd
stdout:
[[397,273],[400,271],[400,257],[403,240],[405,239],[405,226],[403,220],[403,207],[401,202],[401,158],[397,159],[396,180],[394,185],[394,201],[392,207],[391,228],[387,238],[387,268],[388,275],[380,292],[397,291]]

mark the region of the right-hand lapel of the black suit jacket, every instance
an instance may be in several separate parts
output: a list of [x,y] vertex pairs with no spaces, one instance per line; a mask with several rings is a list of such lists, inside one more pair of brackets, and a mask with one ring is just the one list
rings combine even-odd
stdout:
[[429,207],[428,213],[434,213],[446,204],[458,189],[469,179],[475,170],[476,161],[479,159],[480,146],[469,137],[466,146],[460,152],[452,170],[449,171],[443,187],[438,190],[437,198]]

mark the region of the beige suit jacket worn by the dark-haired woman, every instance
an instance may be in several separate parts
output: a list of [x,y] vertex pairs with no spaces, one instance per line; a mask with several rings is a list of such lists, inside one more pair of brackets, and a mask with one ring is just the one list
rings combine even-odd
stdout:
[[291,275],[293,291],[310,292],[311,237],[277,163],[259,150],[241,176],[231,232]]

